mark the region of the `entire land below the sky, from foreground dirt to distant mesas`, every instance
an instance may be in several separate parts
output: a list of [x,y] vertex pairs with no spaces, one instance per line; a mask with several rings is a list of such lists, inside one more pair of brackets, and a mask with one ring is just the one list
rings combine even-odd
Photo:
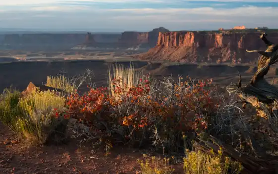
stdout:
[[275,174],[277,61],[267,27],[1,31],[0,174]]

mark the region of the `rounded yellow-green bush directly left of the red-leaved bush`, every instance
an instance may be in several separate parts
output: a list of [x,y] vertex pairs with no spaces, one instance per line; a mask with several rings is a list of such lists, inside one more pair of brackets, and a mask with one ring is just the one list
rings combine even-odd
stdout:
[[[65,127],[65,98],[51,91],[33,91],[19,101],[25,119],[18,119],[18,131],[29,142],[45,143],[57,128]],[[61,114],[62,113],[62,114]],[[64,130],[60,130],[65,133]],[[57,140],[55,140],[57,141]]]

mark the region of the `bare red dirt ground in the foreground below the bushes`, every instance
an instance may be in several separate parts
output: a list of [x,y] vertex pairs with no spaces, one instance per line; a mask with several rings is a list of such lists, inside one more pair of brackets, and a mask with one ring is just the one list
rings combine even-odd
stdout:
[[[146,153],[118,147],[105,156],[103,150],[78,147],[75,139],[61,146],[28,148],[12,140],[15,135],[0,123],[0,174],[135,174],[140,170],[137,159]],[[173,168],[175,174],[183,173],[182,164]]]

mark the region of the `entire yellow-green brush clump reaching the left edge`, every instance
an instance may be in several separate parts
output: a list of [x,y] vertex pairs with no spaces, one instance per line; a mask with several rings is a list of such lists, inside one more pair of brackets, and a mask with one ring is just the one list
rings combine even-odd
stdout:
[[65,98],[51,91],[34,90],[26,96],[12,89],[0,95],[0,121],[28,144],[59,142],[68,121]]

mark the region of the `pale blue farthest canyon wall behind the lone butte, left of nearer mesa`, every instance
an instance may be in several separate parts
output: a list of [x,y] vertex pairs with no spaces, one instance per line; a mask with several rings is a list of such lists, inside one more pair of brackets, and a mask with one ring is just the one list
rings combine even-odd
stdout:
[[81,43],[116,44],[121,34],[91,34],[88,42],[87,34],[5,34],[0,35],[0,46],[10,49],[71,49]]

